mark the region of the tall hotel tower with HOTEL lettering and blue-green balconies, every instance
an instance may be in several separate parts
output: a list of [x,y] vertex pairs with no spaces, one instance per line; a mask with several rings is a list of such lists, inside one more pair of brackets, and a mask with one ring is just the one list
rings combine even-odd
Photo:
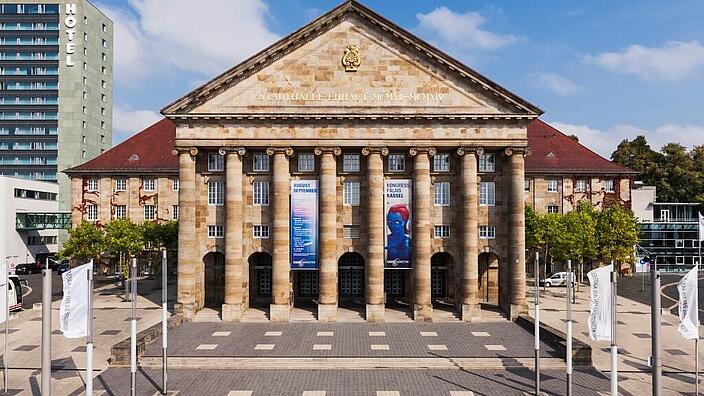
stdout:
[[112,21],[87,0],[0,0],[0,175],[59,183],[112,144]]

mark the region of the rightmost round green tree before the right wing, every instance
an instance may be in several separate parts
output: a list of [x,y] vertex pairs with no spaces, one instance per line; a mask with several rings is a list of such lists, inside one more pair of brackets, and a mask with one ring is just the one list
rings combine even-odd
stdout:
[[633,261],[633,247],[640,241],[640,226],[633,212],[613,205],[597,216],[597,249],[605,261]]

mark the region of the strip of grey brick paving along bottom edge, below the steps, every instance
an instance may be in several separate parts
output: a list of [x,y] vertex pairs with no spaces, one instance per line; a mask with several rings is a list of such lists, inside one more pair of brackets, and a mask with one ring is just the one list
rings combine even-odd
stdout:
[[[564,371],[541,373],[541,390],[547,395],[565,393]],[[301,396],[306,391],[325,396],[398,394],[400,396],[450,396],[450,392],[474,395],[521,395],[533,390],[533,372],[508,370],[171,370],[169,390],[179,396],[226,396],[232,391],[252,396]],[[129,394],[129,369],[109,368],[96,378],[95,389],[109,395]],[[154,395],[161,385],[159,370],[138,373],[139,395]],[[606,394],[609,381],[595,370],[577,370],[574,395]],[[251,393],[249,393],[251,392]],[[397,392],[397,393],[396,393]],[[237,394],[237,393],[232,393]],[[309,393],[315,394],[315,393]],[[322,394],[322,393],[318,393]],[[628,392],[622,395],[631,395]]]

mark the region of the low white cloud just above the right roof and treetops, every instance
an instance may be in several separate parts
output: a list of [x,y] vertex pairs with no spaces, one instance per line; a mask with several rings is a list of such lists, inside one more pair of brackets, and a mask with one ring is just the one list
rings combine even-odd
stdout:
[[629,124],[618,124],[606,130],[591,128],[587,125],[575,125],[562,122],[550,122],[550,125],[567,135],[576,135],[584,146],[596,151],[605,158],[622,140],[633,140],[638,135],[645,136],[653,150],[660,150],[670,142],[677,142],[685,147],[704,144],[704,126],[692,124],[666,124],[652,130],[638,128]]

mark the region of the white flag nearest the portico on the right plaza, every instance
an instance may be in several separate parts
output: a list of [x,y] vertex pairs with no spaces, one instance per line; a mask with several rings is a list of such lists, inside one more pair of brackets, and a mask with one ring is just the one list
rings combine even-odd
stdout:
[[612,264],[589,271],[591,290],[589,303],[589,339],[593,341],[611,341],[611,273]]

